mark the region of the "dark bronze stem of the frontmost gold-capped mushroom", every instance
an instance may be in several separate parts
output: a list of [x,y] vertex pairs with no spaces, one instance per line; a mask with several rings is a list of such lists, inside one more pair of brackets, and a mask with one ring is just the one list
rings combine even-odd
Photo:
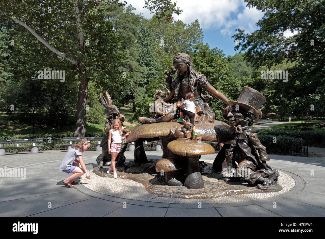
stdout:
[[199,156],[188,157],[184,186],[191,189],[204,187],[204,181],[199,168]]

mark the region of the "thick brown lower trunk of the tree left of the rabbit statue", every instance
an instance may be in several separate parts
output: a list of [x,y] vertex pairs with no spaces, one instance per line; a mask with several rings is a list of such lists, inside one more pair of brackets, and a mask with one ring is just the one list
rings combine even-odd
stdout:
[[73,137],[85,137],[86,133],[86,104],[88,96],[88,82],[82,80],[79,84],[76,127]]

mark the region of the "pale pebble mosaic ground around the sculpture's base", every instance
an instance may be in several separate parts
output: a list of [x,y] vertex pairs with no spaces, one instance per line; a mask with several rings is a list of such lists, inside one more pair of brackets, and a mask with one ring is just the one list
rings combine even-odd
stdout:
[[[210,173],[210,169],[213,164],[213,160],[204,160],[204,163],[207,164],[202,170],[202,177],[204,179],[205,184],[216,184],[219,183],[219,186],[227,185],[227,183],[223,182],[222,180],[218,180],[216,178],[208,177]],[[139,166],[138,166],[139,167]],[[95,168],[96,169],[96,168]],[[105,169],[104,171],[106,171]],[[93,171],[93,170],[92,170]],[[279,185],[282,187],[282,190],[279,192],[262,192],[262,193],[244,193],[244,194],[237,194],[237,195],[227,195],[227,196],[219,196],[214,198],[204,198],[203,194],[209,193],[208,188],[202,189],[202,190],[187,190],[184,186],[175,186],[175,187],[169,187],[169,186],[162,186],[162,188],[166,187],[166,193],[161,193],[165,196],[157,195],[158,193],[149,193],[146,190],[146,187],[139,182],[136,182],[131,179],[121,179],[122,172],[118,172],[118,179],[113,179],[111,174],[100,174],[104,177],[98,176],[97,174],[90,172],[91,179],[86,179],[85,176],[83,176],[80,180],[80,182],[85,186],[86,188],[114,196],[119,198],[125,198],[125,199],[135,199],[140,201],[147,201],[147,202],[160,202],[160,203],[185,203],[185,204],[192,204],[192,203],[234,203],[234,202],[244,202],[248,200],[257,200],[257,199],[263,199],[268,197],[273,197],[276,195],[280,195],[282,193],[286,193],[289,190],[291,190],[295,186],[294,179],[289,176],[288,174],[280,171],[279,176]],[[125,175],[123,173],[123,175]],[[143,177],[143,174],[131,174],[133,177],[136,175],[139,175],[139,177]],[[149,175],[149,174],[147,174]],[[221,175],[220,175],[221,176]],[[220,177],[219,177],[220,178]],[[143,179],[139,180],[143,181]],[[256,187],[253,187],[251,189],[255,189]],[[156,189],[157,191],[157,189]],[[178,193],[179,191],[191,191],[196,192],[199,191],[200,194],[198,194],[197,197],[202,196],[202,198],[182,198],[182,194]],[[238,190],[237,190],[238,191]],[[261,191],[261,190],[259,190]],[[190,193],[190,192],[188,192]],[[204,195],[205,195],[204,194]]]

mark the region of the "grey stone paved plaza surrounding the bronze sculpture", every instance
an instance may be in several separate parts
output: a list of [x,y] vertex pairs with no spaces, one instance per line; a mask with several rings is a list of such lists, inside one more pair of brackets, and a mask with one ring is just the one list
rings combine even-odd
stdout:
[[[86,151],[88,170],[98,166],[100,152]],[[148,158],[161,152],[146,151]],[[21,177],[0,178],[0,216],[325,216],[325,157],[270,154],[269,165],[290,175],[295,187],[278,196],[239,203],[177,204],[123,199],[96,193],[76,185],[66,188],[67,174],[59,170],[66,151],[0,156],[0,168],[25,168]],[[132,161],[133,153],[126,152]],[[201,160],[214,155],[202,155]],[[123,179],[127,180],[127,179]],[[82,208],[82,210],[80,210]]]

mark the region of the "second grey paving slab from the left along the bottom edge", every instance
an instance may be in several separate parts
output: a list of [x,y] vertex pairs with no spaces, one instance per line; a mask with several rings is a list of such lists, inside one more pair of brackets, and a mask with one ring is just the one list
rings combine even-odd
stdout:
[[67,206],[41,212],[32,215],[32,217],[55,217],[58,215],[62,217],[103,217],[121,206],[123,206],[121,203],[91,198]]

